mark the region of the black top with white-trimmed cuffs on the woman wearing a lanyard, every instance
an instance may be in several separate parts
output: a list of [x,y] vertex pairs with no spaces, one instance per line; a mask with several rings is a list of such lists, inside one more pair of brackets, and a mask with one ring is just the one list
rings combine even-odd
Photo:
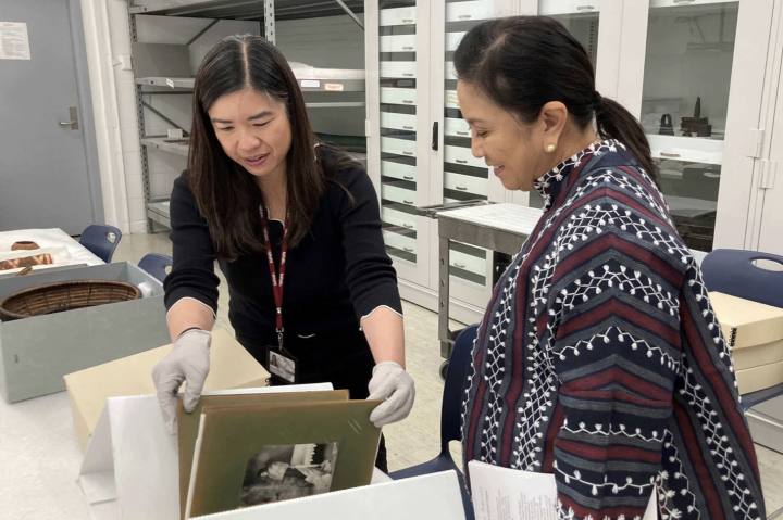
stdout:
[[[217,312],[219,278],[209,228],[187,183],[174,182],[171,240],[174,265],[165,279],[165,304],[195,299]],[[355,201],[345,190],[347,188]],[[270,220],[270,241],[279,269],[283,223]],[[276,344],[276,306],[264,253],[220,262],[228,281],[229,319],[237,335]],[[362,317],[386,306],[402,314],[397,275],[386,254],[375,189],[362,168],[346,168],[327,181],[310,232],[288,248],[283,295],[285,337],[308,337],[359,327]]]

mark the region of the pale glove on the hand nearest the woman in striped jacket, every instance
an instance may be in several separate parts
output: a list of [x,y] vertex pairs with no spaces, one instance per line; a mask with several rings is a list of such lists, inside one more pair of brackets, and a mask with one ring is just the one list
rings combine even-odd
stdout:
[[408,417],[415,399],[413,378],[395,362],[375,365],[370,380],[368,399],[386,399],[373,410],[370,420],[377,428],[398,422]]

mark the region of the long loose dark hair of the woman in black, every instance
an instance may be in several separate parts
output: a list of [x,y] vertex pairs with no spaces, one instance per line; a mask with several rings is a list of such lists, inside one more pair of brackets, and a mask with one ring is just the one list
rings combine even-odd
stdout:
[[288,113],[289,246],[296,246],[307,234],[325,183],[337,170],[358,166],[344,152],[318,142],[297,79],[277,48],[253,35],[232,36],[215,43],[196,75],[187,178],[207,219],[215,254],[227,261],[244,251],[263,250],[259,237],[262,196],[254,177],[223,151],[208,111],[221,97],[246,88],[284,103]]

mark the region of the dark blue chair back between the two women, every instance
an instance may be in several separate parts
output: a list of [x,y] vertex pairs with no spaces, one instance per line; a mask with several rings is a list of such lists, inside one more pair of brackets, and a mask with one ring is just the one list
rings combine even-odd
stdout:
[[440,451],[445,453],[448,453],[450,441],[462,440],[461,417],[464,385],[477,330],[477,325],[471,325],[460,332],[451,352],[451,359],[449,359],[440,411]]

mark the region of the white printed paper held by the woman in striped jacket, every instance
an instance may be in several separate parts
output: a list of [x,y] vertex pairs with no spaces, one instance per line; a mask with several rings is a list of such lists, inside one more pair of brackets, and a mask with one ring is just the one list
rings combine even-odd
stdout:
[[[554,474],[468,462],[476,520],[557,520]],[[643,520],[657,520],[656,494]]]

